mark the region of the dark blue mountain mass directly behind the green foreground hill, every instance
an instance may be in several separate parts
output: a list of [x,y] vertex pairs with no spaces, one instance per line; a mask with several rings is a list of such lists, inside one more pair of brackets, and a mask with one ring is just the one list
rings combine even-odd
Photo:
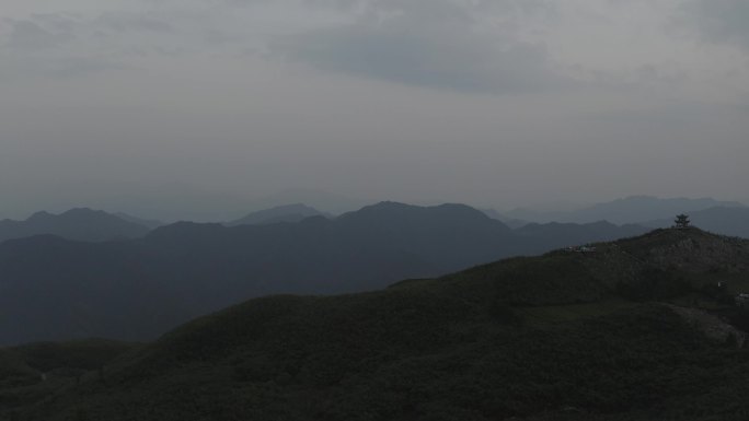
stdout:
[[99,244],[13,239],[0,244],[0,342],[149,339],[253,296],[373,290],[634,233],[610,225],[606,234],[565,230],[515,232],[462,204],[382,202],[334,220],[235,227],[181,222],[142,238]]

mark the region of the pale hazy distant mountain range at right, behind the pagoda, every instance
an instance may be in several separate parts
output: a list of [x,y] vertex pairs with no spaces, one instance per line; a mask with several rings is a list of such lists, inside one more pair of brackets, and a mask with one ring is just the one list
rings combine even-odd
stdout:
[[718,201],[711,198],[661,199],[650,196],[631,196],[568,212],[538,212],[528,209],[515,209],[499,213],[506,219],[531,222],[588,223],[609,221],[614,224],[632,224],[643,223],[645,221],[672,219],[673,215],[678,213],[690,213],[716,207],[744,208],[745,206],[735,201]]

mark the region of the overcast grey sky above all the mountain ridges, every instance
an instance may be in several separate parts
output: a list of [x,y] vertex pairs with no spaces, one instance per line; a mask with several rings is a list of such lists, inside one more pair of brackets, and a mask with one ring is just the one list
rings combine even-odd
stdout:
[[746,0],[0,2],[0,218],[749,202],[748,117]]

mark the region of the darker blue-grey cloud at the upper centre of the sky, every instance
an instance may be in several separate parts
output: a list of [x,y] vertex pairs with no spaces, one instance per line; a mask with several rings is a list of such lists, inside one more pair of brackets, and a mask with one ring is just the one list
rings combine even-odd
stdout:
[[[514,2],[503,3],[512,12]],[[450,0],[370,1],[349,23],[279,38],[270,48],[324,70],[410,85],[506,94],[568,83],[543,45],[486,25],[481,14],[487,11],[497,9]]]

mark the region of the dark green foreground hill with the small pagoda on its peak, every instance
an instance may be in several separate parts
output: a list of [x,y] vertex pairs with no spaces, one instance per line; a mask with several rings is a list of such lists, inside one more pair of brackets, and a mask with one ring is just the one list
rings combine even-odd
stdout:
[[257,299],[184,325],[33,405],[0,400],[0,413],[744,420],[745,334],[706,309],[739,326],[747,316],[731,294],[748,276],[748,242],[660,230],[595,253],[514,258],[378,292]]

